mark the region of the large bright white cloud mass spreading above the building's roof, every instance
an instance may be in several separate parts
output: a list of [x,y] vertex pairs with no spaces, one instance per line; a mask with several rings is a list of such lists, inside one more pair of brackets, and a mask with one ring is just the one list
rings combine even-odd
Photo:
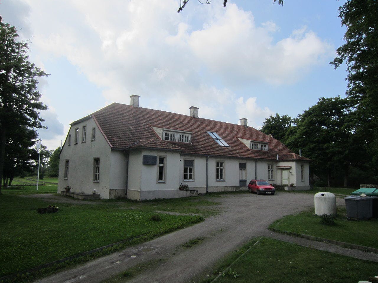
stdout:
[[[276,23],[258,25],[251,12],[234,3],[197,9],[195,17],[206,20],[201,28],[191,10],[175,12],[175,0],[22,3],[29,5],[23,20],[30,23],[39,65],[67,58],[102,89],[106,104],[129,103],[137,94],[144,107],[188,114],[197,106],[200,117],[235,123],[253,113],[249,121],[260,127],[273,112],[258,106],[256,97],[236,98],[240,95],[231,89],[260,81],[296,82],[330,53],[330,46],[306,28],[274,41]],[[43,99],[59,103],[53,92]]]

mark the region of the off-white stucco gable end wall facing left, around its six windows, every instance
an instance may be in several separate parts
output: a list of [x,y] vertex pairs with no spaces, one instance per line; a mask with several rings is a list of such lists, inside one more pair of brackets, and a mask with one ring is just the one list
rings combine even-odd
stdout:
[[[87,126],[86,141],[82,142],[82,128]],[[78,143],[75,144],[75,129],[79,128]],[[96,139],[91,141],[92,128],[96,129]],[[68,145],[68,135],[71,144]],[[73,125],[67,135],[67,140],[60,152],[58,193],[65,186],[70,186],[72,192],[92,194],[93,189],[101,198],[109,197],[110,188],[110,146],[90,118],[77,125]],[[100,180],[93,182],[93,158],[100,158]],[[65,161],[69,161],[68,178],[64,178]]]

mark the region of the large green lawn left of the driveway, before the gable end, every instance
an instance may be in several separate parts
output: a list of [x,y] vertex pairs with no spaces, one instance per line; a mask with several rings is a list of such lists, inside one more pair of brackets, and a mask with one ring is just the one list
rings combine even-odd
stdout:
[[[34,189],[3,190],[0,195],[0,277],[122,240],[129,240],[122,247],[134,245],[198,223],[204,219],[201,215],[218,211],[214,208],[218,203],[207,197],[140,203],[98,200],[78,205],[19,196],[23,190],[35,193]],[[59,206],[59,212],[36,212],[48,205]],[[160,213],[161,221],[153,221],[156,210],[201,215]]]

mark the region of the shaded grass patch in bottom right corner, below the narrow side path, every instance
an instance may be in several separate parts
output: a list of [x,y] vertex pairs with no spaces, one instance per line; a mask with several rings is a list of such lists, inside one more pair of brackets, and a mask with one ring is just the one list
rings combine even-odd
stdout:
[[[214,282],[355,283],[367,280],[378,272],[376,263],[372,261],[345,257],[270,238],[261,238],[259,243],[253,246],[255,242],[256,239],[251,240],[223,259],[213,274],[200,282],[213,282],[226,268],[228,269],[224,275]],[[248,251],[251,246],[253,247]]]

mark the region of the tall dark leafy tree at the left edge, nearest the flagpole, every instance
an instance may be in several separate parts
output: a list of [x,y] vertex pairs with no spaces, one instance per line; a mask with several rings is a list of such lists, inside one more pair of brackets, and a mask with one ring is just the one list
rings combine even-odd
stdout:
[[20,126],[43,128],[39,111],[47,109],[37,90],[37,77],[47,74],[28,61],[29,45],[17,37],[16,28],[0,17],[0,180],[9,133]]

